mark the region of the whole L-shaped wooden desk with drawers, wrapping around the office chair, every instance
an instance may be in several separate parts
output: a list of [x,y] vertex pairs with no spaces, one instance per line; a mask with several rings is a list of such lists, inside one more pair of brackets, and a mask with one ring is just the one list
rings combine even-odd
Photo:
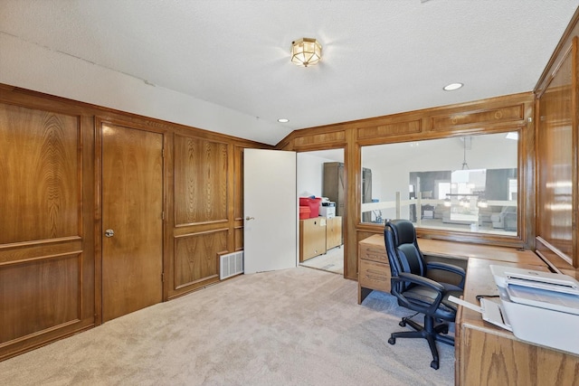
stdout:
[[[427,239],[419,239],[418,243],[424,255],[468,261],[463,298],[477,305],[477,295],[498,294],[489,268],[491,264],[547,270],[543,260],[530,250]],[[390,267],[385,256],[382,235],[359,242],[359,303],[373,289],[390,291],[389,284],[387,290],[384,289],[386,276],[390,280]],[[365,264],[364,259],[375,263],[369,271],[362,269],[364,266],[360,263]],[[374,286],[376,282],[378,285]],[[546,325],[546,328],[557,326]],[[456,385],[552,386],[579,383],[579,356],[527,344],[507,330],[484,322],[479,313],[462,306],[457,313],[455,334]]]

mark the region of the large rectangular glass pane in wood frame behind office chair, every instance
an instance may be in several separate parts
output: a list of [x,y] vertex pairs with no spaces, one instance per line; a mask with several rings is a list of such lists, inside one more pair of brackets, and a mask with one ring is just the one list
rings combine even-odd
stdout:
[[362,146],[361,221],[517,236],[517,131]]

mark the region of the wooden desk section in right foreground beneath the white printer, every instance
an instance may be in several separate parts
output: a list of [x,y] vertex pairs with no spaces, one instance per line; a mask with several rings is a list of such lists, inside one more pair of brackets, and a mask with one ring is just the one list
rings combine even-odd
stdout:
[[[497,295],[491,264],[548,270],[520,262],[470,258],[463,298],[479,304],[477,295]],[[545,328],[557,328],[555,324]],[[459,307],[455,328],[456,385],[571,385],[579,381],[579,356],[527,344],[514,334]]]

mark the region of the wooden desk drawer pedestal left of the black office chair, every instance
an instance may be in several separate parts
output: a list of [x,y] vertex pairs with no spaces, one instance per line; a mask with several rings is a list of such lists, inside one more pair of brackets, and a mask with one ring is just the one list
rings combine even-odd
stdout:
[[372,290],[390,292],[390,265],[382,235],[358,242],[358,304]]

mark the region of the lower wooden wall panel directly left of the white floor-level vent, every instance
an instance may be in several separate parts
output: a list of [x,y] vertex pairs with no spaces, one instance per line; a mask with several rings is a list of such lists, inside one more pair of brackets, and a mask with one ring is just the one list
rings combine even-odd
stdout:
[[183,235],[175,240],[175,289],[219,280],[219,255],[227,251],[228,230]]

